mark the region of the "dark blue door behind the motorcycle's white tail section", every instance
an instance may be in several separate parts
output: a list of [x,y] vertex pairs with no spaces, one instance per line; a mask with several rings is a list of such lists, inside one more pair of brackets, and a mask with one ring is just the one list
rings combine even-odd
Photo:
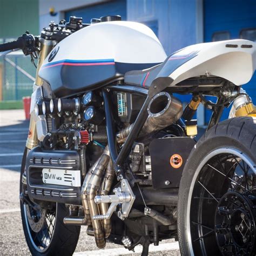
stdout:
[[[244,38],[256,42],[256,1],[255,0],[204,0],[204,41],[221,41]],[[256,74],[242,86],[256,104]],[[212,97],[211,100],[214,100]],[[205,111],[208,122],[211,111]],[[226,119],[225,110],[221,120]]]

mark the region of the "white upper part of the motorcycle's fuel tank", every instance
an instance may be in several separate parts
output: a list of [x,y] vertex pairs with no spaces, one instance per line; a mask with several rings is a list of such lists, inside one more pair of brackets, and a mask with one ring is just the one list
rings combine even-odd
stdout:
[[154,32],[137,22],[96,23],[73,33],[58,46],[53,62],[114,59],[120,63],[161,63],[167,57]]

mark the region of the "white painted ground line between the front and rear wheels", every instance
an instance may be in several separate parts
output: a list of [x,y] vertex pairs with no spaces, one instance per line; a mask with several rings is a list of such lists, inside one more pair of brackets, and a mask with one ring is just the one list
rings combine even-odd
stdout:
[[[138,245],[134,248],[134,253],[142,253],[143,247]],[[178,242],[169,242],[167,244],[160,244],[159,246],[150,245],[149,252],[160,252],[160,251],[171,251],[178,250],[179,244]],[[132,251],[129,251],[125,248],[113,248],[113,249],[105,249],[105,250],[95,250],[95,251],[85,251],[85,252],[76,252],[74,256],[89,256],[89,255],[125,255],[125,254],[133,254]]]

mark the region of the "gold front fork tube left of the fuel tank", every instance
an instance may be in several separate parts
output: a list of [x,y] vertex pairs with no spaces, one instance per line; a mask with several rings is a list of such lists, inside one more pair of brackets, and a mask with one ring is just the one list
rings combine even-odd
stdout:
[[[36,70],[36,81],[35,81],[35,85],[37,86],[43,85],[43,80],[38,76],[38,72],[44,62],[44,59],[49,55],[50,51],[56,45],[56,43],[57,43],[56,41],[46,40],[43,38],[40,39],[41,49],[39,51],[37,70]],[[37,131],[36,131],[36,122],[31,117],[30,123],[29,123],[29,134],[28,134],[28,138],[26,139],[26,147],[31,150],[33,147],[37,145],[38,145],[38,138],[37,138]]]

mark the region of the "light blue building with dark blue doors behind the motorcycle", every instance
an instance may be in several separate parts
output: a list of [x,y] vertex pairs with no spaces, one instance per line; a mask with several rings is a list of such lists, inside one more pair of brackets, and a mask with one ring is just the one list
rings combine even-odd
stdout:
[[[15,2],[31,1],[37,2],[37,0]],[[38,1],[39,31],[48,26],[50,21],[56,23],[60,19],[68,21],[70,16],[83,17],[85,23],[90,23],[91,18],[120,15],[123,20],[137,21],[149,26],[158,36],[168,55],[187,45],[196,43],[235,38],[256,41],[255,0],[242,2],[240,0]],[[14,21],[17,22],[16,17]],[[35,24],[38,24],[38,20]],[[254,102],[256,102],[255,86],[256,75],[248,85],[244,86]],[[189,96],[184,96],[183,100],[186,102],[189,98]],[[225,116],[227,116],[227,112],[225,112]],[[210,114],[210,111],[204,112],[203,108],[199,109],[199,124],[207,122]]]

